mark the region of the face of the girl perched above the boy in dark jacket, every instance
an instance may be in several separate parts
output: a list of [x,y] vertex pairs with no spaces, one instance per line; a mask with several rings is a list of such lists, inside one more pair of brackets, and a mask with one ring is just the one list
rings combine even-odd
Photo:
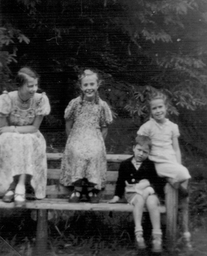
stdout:
[[162,99],[152,100],[150,102],[150,109],[151,109],[151,113],[152,113],[152,116],[155,119],[155,121],[157,121],[158,123],[165,122],[167,108]]

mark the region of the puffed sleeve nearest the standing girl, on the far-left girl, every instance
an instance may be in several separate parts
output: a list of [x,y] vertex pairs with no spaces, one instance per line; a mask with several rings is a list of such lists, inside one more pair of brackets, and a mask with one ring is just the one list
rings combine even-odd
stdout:
[[50,113],[49,99],[45,93],[39,94],[36,99],[35,115],[46,116]]

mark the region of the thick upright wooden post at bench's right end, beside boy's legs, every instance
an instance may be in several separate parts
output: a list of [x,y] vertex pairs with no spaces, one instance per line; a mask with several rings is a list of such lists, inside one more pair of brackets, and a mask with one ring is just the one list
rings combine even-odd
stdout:
[[166,238],[168,248],[173,249],[177,233],[178,191],[169,183],[165,187]]

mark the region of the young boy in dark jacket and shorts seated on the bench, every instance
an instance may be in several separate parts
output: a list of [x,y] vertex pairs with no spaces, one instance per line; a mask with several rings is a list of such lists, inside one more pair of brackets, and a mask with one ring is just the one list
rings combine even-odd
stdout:
[[135,237],[138,248],[146,248],[142,214],[146,205],[153,226],[153,252],[162,251],[162,231],[160,224],[159,198],[164,197],[166,180],[157,175],[154,163],[147,157],[151,149],[151,140],[147,136],[138,135],[133,146],[134,155],[123,161],[118,170],[118,179],[113,199],[109,203],[116,203],[125,195],[133,208],[135,221]]

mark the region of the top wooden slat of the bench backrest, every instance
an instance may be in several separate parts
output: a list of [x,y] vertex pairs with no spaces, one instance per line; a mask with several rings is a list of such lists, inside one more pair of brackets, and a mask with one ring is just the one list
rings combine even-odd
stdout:
[[[107,154],[106,159],[107,159],[107,162],[120,163],[130,158],[131,156],[132,155]],[[48,161],[61,161],[62,157],[63,157],[63,153],[47,153]]]

